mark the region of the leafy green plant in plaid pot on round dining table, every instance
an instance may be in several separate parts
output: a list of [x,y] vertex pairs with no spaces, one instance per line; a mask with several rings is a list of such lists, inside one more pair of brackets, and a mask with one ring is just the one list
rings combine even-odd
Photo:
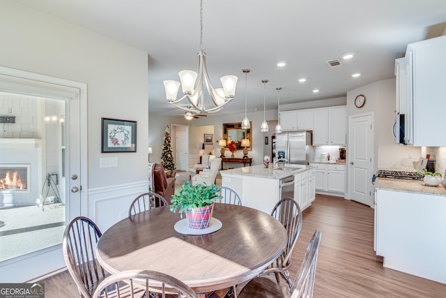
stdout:
[[189,228],[206,229],[212,218],[214,200],[222,198],[220,188],[212,184],[196,184],[185,181],[180,191],[172,196],[170,210],[185,212]]

